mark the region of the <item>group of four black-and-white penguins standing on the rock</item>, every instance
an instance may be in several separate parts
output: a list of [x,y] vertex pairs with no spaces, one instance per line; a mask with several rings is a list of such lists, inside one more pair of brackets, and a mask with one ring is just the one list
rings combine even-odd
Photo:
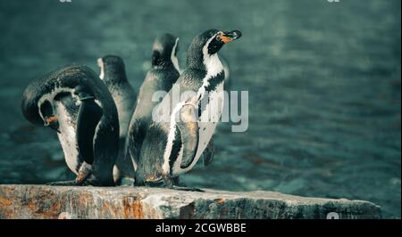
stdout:
[[[194,37],[182,72],[179,38],[156,37],[152,68],[138,94],[124,62],[112,55],[97,60],[100,75],[87,66],[71,65],[33,79],[22,97],[22,113],[30,123],[57,133],[67,166],[77,175],[51,185],[113,186],[126,176],[135,186],[180,189],[181,174],[201,156],[205,166],[214,158],[217,120],[203,117],[219,119],[222,108],[206,113],[201,102],[222,100],[218,94],[225,69],[217,53],[239,37],[239,30],[217,29]],[[175,88],[180,91],[178,102],[171,100]],[[153,100],[158,91],[168,92],[160,102]]]

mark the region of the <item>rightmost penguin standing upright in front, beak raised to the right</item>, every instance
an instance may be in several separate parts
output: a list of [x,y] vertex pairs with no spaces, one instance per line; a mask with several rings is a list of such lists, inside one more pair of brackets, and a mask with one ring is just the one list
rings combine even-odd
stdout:
[[[147,135],[134,159],[134,185],[180,188],[174,178],[191,170],[208,147],[222,114],[224,69],[218,52],[241,37],[239,30],[206,30],[188,48],[187,68],[157,105]],[[180,92],[177,102],[175,91]],[[218,106],[210,106],[219,104]],[[205,165],[213,156],[207,152]],[[188,190],[188,189],[186,189]],[[189,189],[191,190],[191,189]]]

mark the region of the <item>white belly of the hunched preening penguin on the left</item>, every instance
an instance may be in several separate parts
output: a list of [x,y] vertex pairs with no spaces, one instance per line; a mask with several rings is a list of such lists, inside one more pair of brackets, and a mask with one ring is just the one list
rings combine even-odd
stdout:
[[54,106],[60,131],[57,135],[62,144],[64,159],[71,171],[78,175],[79,151],[76,138],[76,123],[72,120],[62,102],[55,102]]

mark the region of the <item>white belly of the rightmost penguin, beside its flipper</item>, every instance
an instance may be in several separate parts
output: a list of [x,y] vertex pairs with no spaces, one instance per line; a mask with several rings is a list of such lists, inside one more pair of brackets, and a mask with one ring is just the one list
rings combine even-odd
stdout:
[[173,176],[179,176],[180,174],[184,174],[194,168],[194,166],[197,164],[198,159],[201,158],[203,152],[205,151],[206,146],[214,135],[214,131],[219,122],[219,119],[221,119],[223,97],[220,93],[222,92],[222,90],[223,82],[216,86],[213,92],[209,93],[209,103],[206,105],[206,110],[201,114],[201,117],[197,121],[199,135],[195,159],[188,168],[180,168],[181,161],[183,159],[183,148],[181,147],[179,156],[176,162],[174,162],[172,168]]

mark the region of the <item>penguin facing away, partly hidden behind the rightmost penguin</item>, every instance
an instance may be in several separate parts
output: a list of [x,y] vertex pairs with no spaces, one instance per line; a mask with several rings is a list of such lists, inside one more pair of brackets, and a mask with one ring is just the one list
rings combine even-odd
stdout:
[[[130,120],[126,145],[126,156],[129,159],[138,160],[143,139],[147,135],[147,127],[152,121],[152,111],[159,103],[153,102],[153,95],[157,91],[169,92],[180,77],[178,51],[178,37],[165,33],[155,38],[151,55],[152,68],[139,88],[137,107]],[[133,164],[137,164],[137,161]],[[136,166],[134,168],[137,169]]]

